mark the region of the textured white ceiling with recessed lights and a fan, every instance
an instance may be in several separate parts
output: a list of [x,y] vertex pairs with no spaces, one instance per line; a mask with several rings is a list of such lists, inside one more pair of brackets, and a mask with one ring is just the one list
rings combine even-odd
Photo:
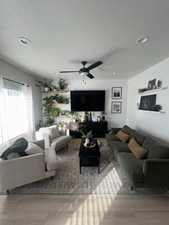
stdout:
[[[168,0],[0,0],[0,55],[46,78],[103,60],[96,79],[128,79],[169,56],[168,12]],[[146,35],[150,41],[137,45]]]

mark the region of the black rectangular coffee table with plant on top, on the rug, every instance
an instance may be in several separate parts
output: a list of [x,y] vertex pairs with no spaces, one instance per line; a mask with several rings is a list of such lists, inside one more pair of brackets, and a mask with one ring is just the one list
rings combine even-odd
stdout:
[[84,146],[84,140],[81,141],[79,151],[80,174],[82,167],[98,167],[100,173],[100,149],[97,140],[94,140],[95,146],[88,148]]

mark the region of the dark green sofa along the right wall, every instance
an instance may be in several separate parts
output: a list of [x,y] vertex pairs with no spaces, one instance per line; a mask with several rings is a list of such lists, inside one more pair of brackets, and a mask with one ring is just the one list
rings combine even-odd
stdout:
[[106,139],[120,165],[121,175],[128,179],[131,189],[138,186],[169,187],[169,147],[125,125],[121,128],[122,131],[130,138],[134,137],[147,150],[144,159],[136,159],[128,148],[128,143],[121,142],[115,136],[119,129],[113,128]]

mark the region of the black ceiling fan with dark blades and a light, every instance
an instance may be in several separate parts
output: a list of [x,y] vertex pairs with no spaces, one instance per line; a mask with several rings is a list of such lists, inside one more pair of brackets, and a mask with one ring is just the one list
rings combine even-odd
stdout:
[[100,66],[103,64],[102,61],[97,61],[90,66],[86,67],[87,61],[82,61],[81,64],[83,67],[80,70],[75,70],[75,71],[60,71],[60,73],[79,73],[80,75],[85,75],[89,77],[90,79],[93,79],[94,76],[90,73],[90,70],[95,69],[96,67]]

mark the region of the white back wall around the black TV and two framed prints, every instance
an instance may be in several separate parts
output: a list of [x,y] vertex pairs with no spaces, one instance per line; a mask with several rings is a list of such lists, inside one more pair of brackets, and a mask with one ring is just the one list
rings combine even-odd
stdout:
[[[122,87],[122,113],[112,114],[111,113],[111,88]],[[127,82],[118,80],[86,80],[86,84],[82,80],[71,80],[69,82],[70,90],[105,90],[106,101],[105,101],[105,112],[107,113],[106,120],[109,122],[109,127],[121,127],[126,122],[126,111],[127,111]]]

